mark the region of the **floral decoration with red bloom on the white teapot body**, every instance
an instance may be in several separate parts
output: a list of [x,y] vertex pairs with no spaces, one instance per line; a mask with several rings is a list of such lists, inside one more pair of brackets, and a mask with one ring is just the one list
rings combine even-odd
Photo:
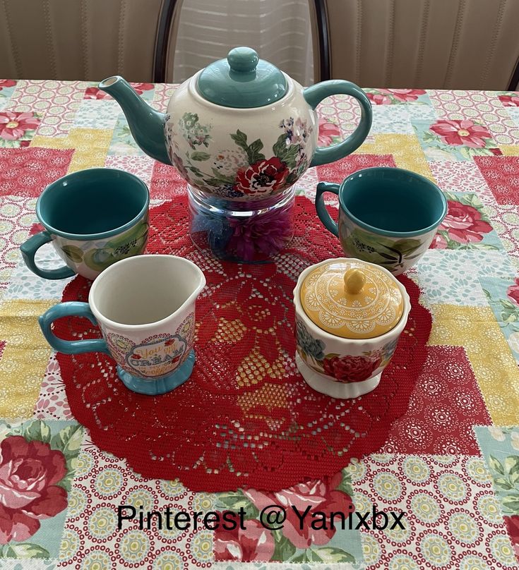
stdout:
[[[184,113],[177,126],[167,115],[165,135],[172,163],[191,185],[220,198],[256,200],[290,188],[309,167],[313,126],[289,117],[278,127],[281,132],[271,153],[261,138],[249,141],[239,129],[229,133],[229,145],[234,142],[234,148],[206,152],[213,142],[212,127],[202,124],[196,113]],[[179,135],[189,150],[179,150]]]

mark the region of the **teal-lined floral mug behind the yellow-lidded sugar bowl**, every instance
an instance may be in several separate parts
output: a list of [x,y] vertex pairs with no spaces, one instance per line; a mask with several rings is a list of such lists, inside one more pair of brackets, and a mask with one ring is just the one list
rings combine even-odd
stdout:
[[[323,194],[339,197],[339,221],[334,222]],[[386,267],[400,275],[431,245],[447,213],[447,200],[430,180],[398,168],[368,168],[341,184],[317,185],[319,219],[338,236],[347,257]]]

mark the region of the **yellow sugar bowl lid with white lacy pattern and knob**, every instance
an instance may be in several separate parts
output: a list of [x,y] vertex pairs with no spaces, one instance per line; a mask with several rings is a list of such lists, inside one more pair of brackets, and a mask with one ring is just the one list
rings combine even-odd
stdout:
[[316,265],[304,279],[301,303],[320,329],[343,339],[373,339],[393,329],[404,300],[387,269],[356,259]]

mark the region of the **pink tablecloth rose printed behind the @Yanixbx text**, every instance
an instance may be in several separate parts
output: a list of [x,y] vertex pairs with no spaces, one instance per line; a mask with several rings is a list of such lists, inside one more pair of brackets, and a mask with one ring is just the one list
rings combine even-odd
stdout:
[[[321,511],[326,519],[330,520],[330,513],[340,511],[345,513],[345,517],[354,510],[350,495],[337,490],[336,487],[342,480],[342,473],[334,475],[329,480],[313,480],[306,483],[299,483],[290,489],[279,492],[245,490],[244,494],[251,499],[256,508],[261,512],[269,505],[279,505],[287,514],[283,524],[283,535],[297,548],[306,549],[311,545],[325,545],[335,535],[335,528],[326,525],[314,524],[312,528],[312,515]],[[294,511],[299,512],[299,516]],[[308,509],[308,514],[300,521],[302,513]],[[302,527],[302,528],[301,528]]]

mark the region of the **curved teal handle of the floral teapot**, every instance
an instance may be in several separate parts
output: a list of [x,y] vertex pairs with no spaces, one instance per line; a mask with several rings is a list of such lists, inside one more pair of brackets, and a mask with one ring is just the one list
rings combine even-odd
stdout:
[[342,79],[332,79],[321,81],[321,83],[311,85],[303,90],[303,97],[312,109],[315,109],[323,99],[330,97],[330,95],[351,95],[355,97],[361,107],[360,122],[353,133],[338,145],[317,147],[310,166],[328,164],[328,162],[334,162],[344,158],[347,154],[351,154],[362,145],[371,128],[371,121],[373,120],[371,102],[369,102],[364,91],[354,83]]

